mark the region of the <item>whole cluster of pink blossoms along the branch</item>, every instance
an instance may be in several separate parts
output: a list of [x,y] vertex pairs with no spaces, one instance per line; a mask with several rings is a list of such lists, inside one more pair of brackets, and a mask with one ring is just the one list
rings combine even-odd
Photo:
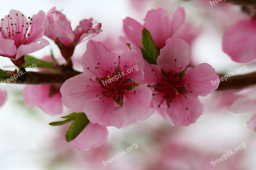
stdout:
[[[74,145],[84,151],[105,142],[108,134],[106,127],[126,127],[137,120],[147,120],[155,112],[164,120],[168,118],[172,126],[195,123],[204,111],[198,96],[214,92],[219,85],[213,86],[211,83],[211,80],[219,78],[211,65],[201,63],[195,68],[188,66],[189,44],[198,32],[189,32],[193,27],[185,22],[183,8],[178,7],[172,18],[167,16],[167,11],[158,8],[148,11],[143,25],[129,17],[124,19],[123,24],[125,37],[122,40],[130,43],[130,49],[117,54],[109,51],[102,42],[89,40],[81,58],[83,73],[67,79],[64,84],[27,85],[23,91],[28,106],[39,106],[55,115],[61,113],[65,105],[72,112],[86,115],[88,123],[73,140]],[[28,19],[19,11],[12,10],[1,20],[0,26],[1,56],[9,57],[22,69],[26,62],[25,55],[49,45],[43,39],[45,35],[59,47],[67,64],[59,65],[49,56],[43,60],[54,63],[57,68],[55,72],[61,73],[65,73],[67,68],[72,69],[71,56],[76,45],[101,31],[101,24],[92,18],[80,21],[73,31],[66,16],[55,8],[47,15],[39,11]],[[149,31],[153,41],[148,42],[151,43],[150,48],[155,46],[159,52],[155,64],[150,64],[141,51],[145,48],[141,41],[144,29]],[[249,31],[241,37],[238,32],[243,29]],[[255,19],[232,26],[223,37],[223,50],[234,61],[252,61],[256,58],[255,30]],[[244,39],[248,42],[243,43],[241,40]],[[136,71],[132,69],[135,66]],[[49,75],[53,73],[47,69],[39,71]],[[106,80],[112,81],[104,84]],[[6,93],[0,91],[0,96],[2,105]],[[66,116],[70,119],[67,122],[75,120],[72,116]],[[255,122],[255,116],[252,122]]]

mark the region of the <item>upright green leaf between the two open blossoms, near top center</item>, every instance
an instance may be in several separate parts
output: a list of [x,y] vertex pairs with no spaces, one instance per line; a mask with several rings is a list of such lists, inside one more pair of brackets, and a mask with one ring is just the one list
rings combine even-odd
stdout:
[[[156,63],[157,57],[160,55],[159,49],[156,47],[155,42],[153,41],[150,32],[144,28],[142,31],[142,45],[145,48],[145,51],[142,51],[143,56],[148,63]],[[147,51],[147,52],[146,52]],[[153,62],[154,61],[154,62]]]

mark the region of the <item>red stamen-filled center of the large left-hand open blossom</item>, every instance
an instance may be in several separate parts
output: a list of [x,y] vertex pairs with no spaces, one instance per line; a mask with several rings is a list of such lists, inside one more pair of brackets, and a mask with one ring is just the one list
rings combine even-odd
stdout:
[[[95,74],[89,68],[89,71],[92,72],[94,76],[96,76],[95,81],[90,78],[90,81],[100,85],[100,88],[103,88],[104,91],[102,94],[97,94],[96,97],[99,97],[102,102],[106,102],[109,100],[114,99],[117,104],[123,106],[124,102],[124,94],[125,93],[134,93],[136,94],[135,90],[132,90],[133,87],[138,86],[132,79],[126,78],[126,75],[122,74],[120,70],[120,56],[118,56],[118,67],[116,67],[116,62],[114,63],[114,67],[111,67],[110,70],[104,70],[100,63],[95,69],[98,71],[99,75]],[[127,66],[125,66],[127,67]],[[111,80],[111,81],[110,81]],[[89,85],[87,85],[89,87]],[[94,88],[94,87],[92,87]],[[98,87],[95,87],[99,89]]]

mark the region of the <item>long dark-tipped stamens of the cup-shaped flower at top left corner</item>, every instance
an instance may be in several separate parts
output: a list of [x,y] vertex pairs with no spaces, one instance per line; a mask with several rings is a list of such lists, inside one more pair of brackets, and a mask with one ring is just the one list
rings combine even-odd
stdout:
[[[12,17],[17,17],[17,23],[12,22]],[[25,26],[23,25],[24,23],[23,14],[19,16],[16,13],[16,16],[12,16],[12,17],[8,15],[7,21],[4,19],[1,19],[0,33],[4,39],[11,39],[15,41],[14,44],[18,48],[21,44],[26,44],[30,38],[30,34],[33,29],[32,18],[28,17],[28,22],[26,22],[26,26]],[[19,22],[19,19],[22,20],[22,22]],[[7,25],[6,28],[3,27],[4,23]],[[30,28],[30,33],[28,33],[29,28]]]

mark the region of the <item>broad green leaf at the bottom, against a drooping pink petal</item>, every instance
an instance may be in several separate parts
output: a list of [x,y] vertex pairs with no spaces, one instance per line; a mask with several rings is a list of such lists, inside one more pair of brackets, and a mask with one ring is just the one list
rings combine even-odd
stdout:
[[66,140],[68,142],[74,140],[89,123],[90,121],[87,119],[87,116],[84,113],[79,113],[74,122],[72,122],[68,128]]

